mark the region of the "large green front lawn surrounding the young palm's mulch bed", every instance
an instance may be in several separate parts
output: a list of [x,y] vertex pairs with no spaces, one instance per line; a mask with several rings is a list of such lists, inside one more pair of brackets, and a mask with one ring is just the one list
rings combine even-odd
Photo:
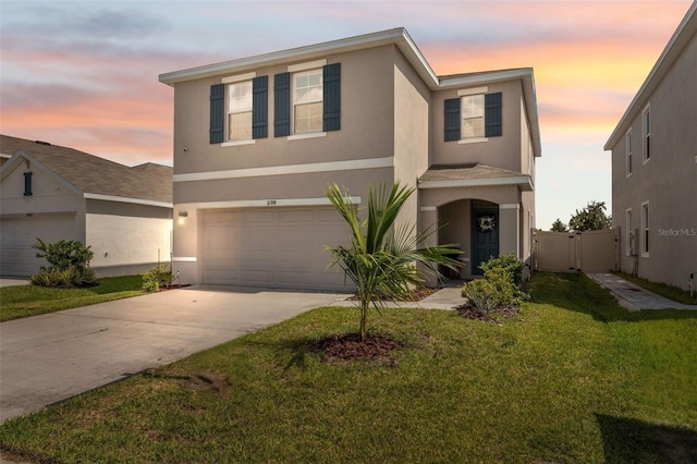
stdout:
[[[536,273],[499,325],[384,309],[404,343],[323,363],[355,331],[319,308],[0,426],[38,462],[694,462],[697,313],[627,313],[583,274]],[[212,383],[187,379],[203,376]]]

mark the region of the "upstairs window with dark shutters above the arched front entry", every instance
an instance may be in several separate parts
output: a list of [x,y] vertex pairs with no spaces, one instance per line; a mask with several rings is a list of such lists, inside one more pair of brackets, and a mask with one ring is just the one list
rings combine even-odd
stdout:
[[502,94],[488,87],[460,90],[444,101],[445,142],[484,142],[503,135]]

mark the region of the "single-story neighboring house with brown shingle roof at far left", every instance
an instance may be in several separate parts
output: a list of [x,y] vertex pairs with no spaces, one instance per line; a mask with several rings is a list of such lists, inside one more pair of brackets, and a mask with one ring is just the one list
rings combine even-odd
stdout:
[[172,168],[130,168],[72,148],[0,136],[0,273],[30,276],[44,259],[32,245],[77,240],[91,246],[98,277],[169,262]]

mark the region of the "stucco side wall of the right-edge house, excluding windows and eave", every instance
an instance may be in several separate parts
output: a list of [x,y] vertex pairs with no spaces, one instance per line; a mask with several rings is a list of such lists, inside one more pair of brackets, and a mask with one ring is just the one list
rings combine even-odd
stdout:
[[[641,111],[632,121],[633,172],[626,175],[625,136],[612,147],[612,220],[621,227],[621,267],[626,254],[626,210],[641,227],[641,204],[649,203],[649,256],[639,256],[638,274],[686,289],[697,272],[697,39],[692,38],[658,88],[649,96],[651,159],[643,162]],[[641,110],[645,108],[643,106]],[[639,242],[640,243],[640,242]]]

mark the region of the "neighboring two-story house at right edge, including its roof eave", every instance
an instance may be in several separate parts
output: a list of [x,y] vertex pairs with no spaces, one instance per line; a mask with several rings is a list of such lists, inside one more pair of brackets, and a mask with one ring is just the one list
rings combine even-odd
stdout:
[[697,3],[606,143],[621,268],[683,289],[697,279]]

